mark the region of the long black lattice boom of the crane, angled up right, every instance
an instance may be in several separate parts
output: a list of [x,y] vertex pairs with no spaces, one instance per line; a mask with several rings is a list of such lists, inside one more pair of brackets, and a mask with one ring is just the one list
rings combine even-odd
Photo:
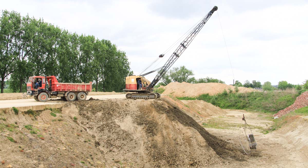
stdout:
[[189,46],[189,44],[193,41],[196,35],[199,33],[201,28],[205,25],[205,23],[209,20],[212,16],[214,11],[218,9],[217,6],[214,6],[211,11],[201,20],[200,23],[190,32],[190,34],[184,39],[182,43],[180,43],[179,47],[172,53],[168,61],[164,64],[164,66],[160,69],[157,73],[154,80],[151,84],[147,87],[149,91],[153,90],[153,87],[157,84],[157,82],[164,76],[164,74],[169,70],[169,68],[176,62],[176,60],[180,57],[180,55],[185,51],[185,49]]

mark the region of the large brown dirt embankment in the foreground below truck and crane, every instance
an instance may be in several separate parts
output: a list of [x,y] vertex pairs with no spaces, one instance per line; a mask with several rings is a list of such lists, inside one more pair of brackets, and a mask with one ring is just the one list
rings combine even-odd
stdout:
[[1,114],[5,166],[206,167],[244,159],[167,99],[68,102],[54,114]]

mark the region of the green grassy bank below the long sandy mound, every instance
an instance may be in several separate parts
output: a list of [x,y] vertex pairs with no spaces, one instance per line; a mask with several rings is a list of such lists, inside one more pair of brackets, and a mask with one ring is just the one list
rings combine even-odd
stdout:
[[294,103],[298,92],[249,92],[217,95],[203,94],[198,97],[177,97],[179,100],[204,100],[222,109],[243,109],[250,111],[276,113]]

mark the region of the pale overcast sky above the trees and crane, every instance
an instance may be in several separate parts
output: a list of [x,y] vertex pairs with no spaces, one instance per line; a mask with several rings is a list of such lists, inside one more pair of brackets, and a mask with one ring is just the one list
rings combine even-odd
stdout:
[[[232,84],[219,14],[235,80],[274,85],[308,79],[308,1],[0,1],[0,10],[15,10],[70,32],[110,40],[126,52],[135,75],[213,6],[218,10],[173,67],[184,65],[196,78],[209,76]],[[152,81],[155,75],[146,78]]]

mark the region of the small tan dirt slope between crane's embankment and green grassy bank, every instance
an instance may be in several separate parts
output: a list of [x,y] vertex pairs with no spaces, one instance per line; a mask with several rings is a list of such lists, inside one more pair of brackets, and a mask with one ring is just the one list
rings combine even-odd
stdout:
[[181,100],[190,109],[196,111],[204,117],[218,116],[225,114],[225,110],[214,106],[211,103],[205,102],[203,100]]

